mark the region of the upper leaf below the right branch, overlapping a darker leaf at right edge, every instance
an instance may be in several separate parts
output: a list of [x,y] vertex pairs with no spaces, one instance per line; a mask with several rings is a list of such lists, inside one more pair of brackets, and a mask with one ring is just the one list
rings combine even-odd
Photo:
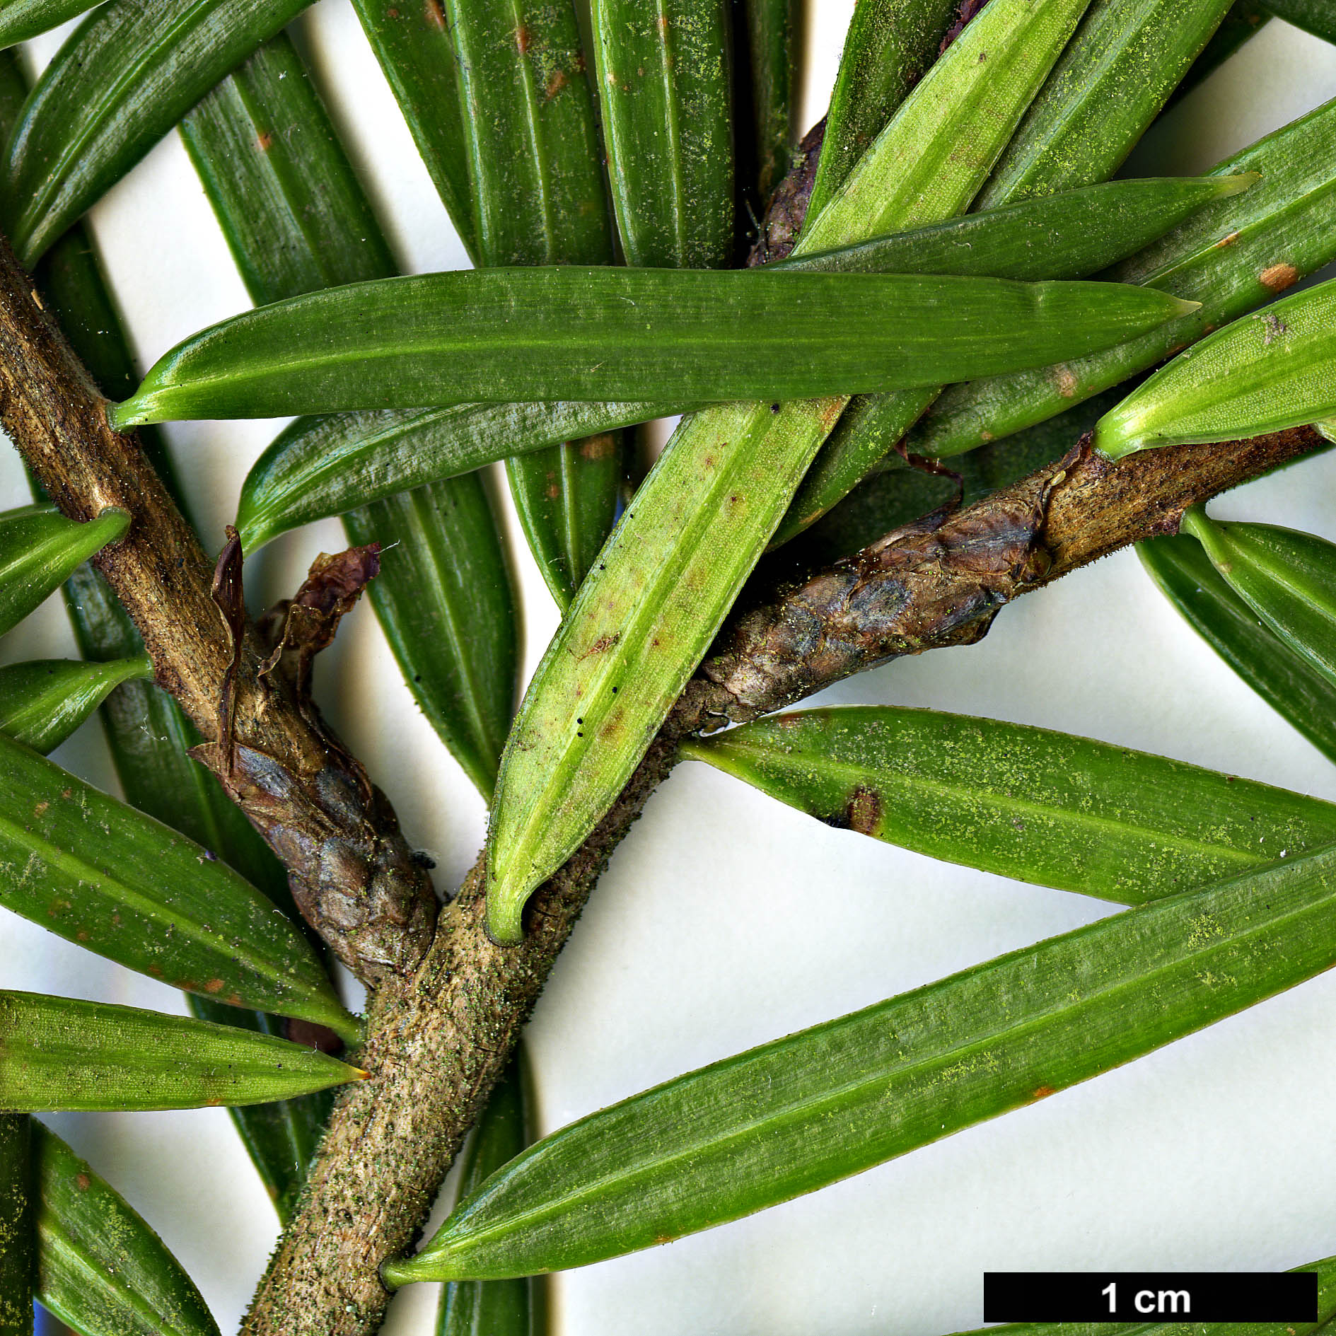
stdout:
[[1336,545],[1271,524],[1222,524],[1193,506],[1182,532],[1265,627],[1336,688]]

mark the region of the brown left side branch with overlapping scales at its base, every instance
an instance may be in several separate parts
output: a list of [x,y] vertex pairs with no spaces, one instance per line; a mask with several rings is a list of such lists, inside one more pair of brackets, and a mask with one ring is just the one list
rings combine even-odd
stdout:
[[212,568],[132,436],[106,401],[0,239],[0,424],[51,500],[75,520],[116,506],[126,537],[96,558],[152,656],[158,681],[206,739],[218,775],[289,871],[293,895],[367,983],[411,971],[432,941],[436,896],[385,795],[282,673],[259,676],[246,627],[235,745],[219,745],[231,632]]

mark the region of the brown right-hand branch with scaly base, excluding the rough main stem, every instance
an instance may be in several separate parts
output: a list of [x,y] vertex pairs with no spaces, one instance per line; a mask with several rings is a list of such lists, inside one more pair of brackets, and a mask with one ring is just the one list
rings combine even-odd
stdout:
[[[1003,604],[1140,538],[1196,501],[1323,444],[1312,428],[1066,458],[953,514],[938,512],[735,617],[700,677],[715,725],[782,709],[890,659],[982,639]],[[699,688],[704,689],[704,688]]]

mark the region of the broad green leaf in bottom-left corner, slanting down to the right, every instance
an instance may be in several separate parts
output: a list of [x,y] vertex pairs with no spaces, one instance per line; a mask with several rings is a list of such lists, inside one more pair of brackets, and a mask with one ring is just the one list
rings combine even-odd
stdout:
[[80,1336],[218,1336],[179,1261],[130,1204],[33,1121],[37,1297]]

